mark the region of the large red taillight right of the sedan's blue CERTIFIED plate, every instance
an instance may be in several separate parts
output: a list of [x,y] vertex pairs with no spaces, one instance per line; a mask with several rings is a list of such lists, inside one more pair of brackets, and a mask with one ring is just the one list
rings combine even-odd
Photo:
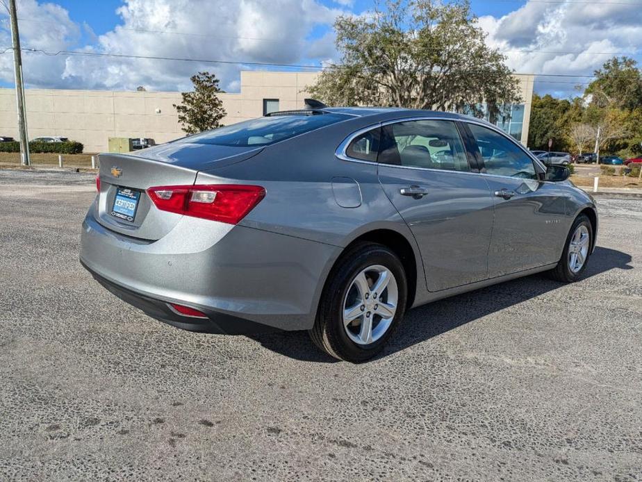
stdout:
[[167,185],[149,188],[147,194],[160,210],[237,224],[265,197],[265,189],[240,184]]

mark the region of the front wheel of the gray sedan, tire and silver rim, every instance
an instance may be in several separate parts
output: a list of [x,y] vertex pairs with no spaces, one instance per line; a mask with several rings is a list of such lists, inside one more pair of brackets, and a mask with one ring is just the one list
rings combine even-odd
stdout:
[[[582,244],[579,244],[578,233],[579,238],[584,238],[584,235],[587,235],[585,238],[586,241],[582,242]],[[589,264],[592,246],[593,226],[591,226],[591,221],[586,215],[579,215],[575,218],[575,222],[573,222],[573,226],[571,226],[570,231],[568,231],[562,256],[559,259],[557,266],[549,272],[551,278],[556,281],[560,281],[561,283],[573,283],[574,281],[579,280],[582,277],[584,270],[586,270],[586,265]],[[577,251],[578,249],[579,253]],[[573,258],[573,254],[575,254],[575,258]],[[576,263],[579,254],[582,254],[582,257],[584,258],[581,266],[578,266]],[[573,261],[574,259],[576,262]]]

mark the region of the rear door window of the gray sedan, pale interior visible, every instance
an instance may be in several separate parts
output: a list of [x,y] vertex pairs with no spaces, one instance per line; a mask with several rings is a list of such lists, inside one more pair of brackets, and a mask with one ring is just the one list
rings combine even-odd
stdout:
[[470,171],[459,131],[454,122],[442,120],[406,121],[384,126],[379,162]]

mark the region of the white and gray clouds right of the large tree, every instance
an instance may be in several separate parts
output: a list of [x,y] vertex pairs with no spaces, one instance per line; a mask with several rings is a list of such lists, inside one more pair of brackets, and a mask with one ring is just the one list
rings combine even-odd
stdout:
[[[611,56],[639,56],[642,9],[620,3],[529,1],[495,18],[479,18],[487,43],[504,52],[520,73],[592,75]],[[590,78],[540,77],[539,90],[572,94]]]

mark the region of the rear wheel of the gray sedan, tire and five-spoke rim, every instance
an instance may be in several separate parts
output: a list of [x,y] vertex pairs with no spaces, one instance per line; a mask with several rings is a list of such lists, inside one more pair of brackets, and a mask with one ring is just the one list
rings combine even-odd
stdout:
[[[384,291],[375,292],[377,282],[383,283],[386,279],[388,284]],[[368,285],[364,286],[364,281]],[[340,257],[329,274],[315,324],[308,332],[312,341],[339,360],[352,363],[369,360],[384,349],[403,319],[407,286],[404,267],[392,250],[372,242],[355,244]],[[390,314],[390,306],[395,306],[393,316],[379,315],[384,313],[381,310]],[[349,313],[350,307],[353,313]],[[355,313],[351,322],[345,322]],[[362,333],[366,335],[361,336]]]

